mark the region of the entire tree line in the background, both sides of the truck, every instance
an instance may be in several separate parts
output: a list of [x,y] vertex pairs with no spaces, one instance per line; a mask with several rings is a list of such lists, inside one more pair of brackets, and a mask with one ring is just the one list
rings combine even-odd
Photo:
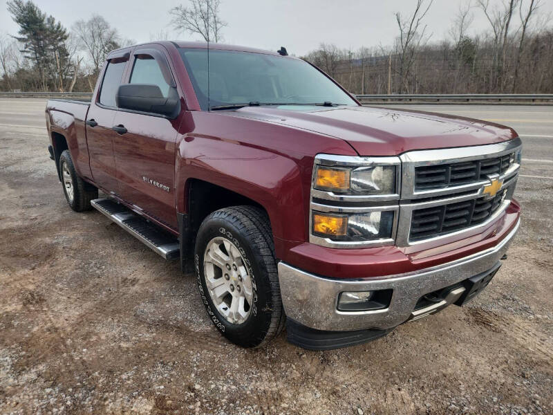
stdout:
[[[546,0],[464,0],[449,38],[431,39],[425,24],[433,0],[416,0],[409,15],[397,12],[393,46],[341,49],[321,44],[303,56],[348,91],[370,93],[553,93],[553,28]],[[221,0],[188,0],[169,10],[173,28],[221,42],[227,26]],[[66,29],[32,0],[10,0],[19,26],[0,34],[0,91],[92,91],[106,55],[134,42],[100,15]],[[488,29],[470,35],[476,14]],[[161,30],[151,40],[167,39]]]

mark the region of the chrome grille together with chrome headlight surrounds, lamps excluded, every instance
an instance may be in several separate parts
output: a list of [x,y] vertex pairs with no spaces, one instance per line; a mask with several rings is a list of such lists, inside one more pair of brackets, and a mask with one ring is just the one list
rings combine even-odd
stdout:
[[[511,203],[520,169],[516,154],[521,148],[521,139],[515,138],[491,145],[408,151],[399,157],[319,154],[315,165],[395,165],[397,187],[395,194],[335,194],[315,190],[313,176],[309,230],[312,229],[312,212],[392,210],[395,214],[391,239],[337,242],[310,232],[309,240],[330,248],[424,244],[424,249],[428,249],[474,236],[493,223]],[[418,168],[424,169],[427,176],[440,176],[440,180],[421,188],[417,185]],[[496,194],[485,194],[492,180],[501,185]]]

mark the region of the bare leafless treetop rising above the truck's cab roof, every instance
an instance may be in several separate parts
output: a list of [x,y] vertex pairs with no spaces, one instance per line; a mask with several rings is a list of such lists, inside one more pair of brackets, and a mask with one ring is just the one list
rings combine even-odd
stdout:
[[169,10],[171,24],[180,32],[200,35],[205,42],[223,40],[221,30],[227,26],[219,16],[221,0],[189,0]]

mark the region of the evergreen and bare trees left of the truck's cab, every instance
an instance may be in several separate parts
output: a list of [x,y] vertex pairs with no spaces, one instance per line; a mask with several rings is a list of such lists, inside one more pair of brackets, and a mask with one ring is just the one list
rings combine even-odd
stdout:
[[7,6],[19,30],[0,33],[0,91],[93,91],[106,55],[133,43],[100,15],[68,30],[32,1]]

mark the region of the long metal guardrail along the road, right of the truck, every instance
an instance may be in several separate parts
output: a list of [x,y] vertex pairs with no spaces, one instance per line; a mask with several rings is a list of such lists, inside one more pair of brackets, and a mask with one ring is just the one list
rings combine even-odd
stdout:
[[386,104],[405,104],[406,102],[424,102],[440,104],[459,104],[465,102],[480,102],[489,104],[553,104],[553,94],[538,93],[460,93],[460,94],[377,94],[377,95],[355,95],[362,104],[375,104],[386,102]]

